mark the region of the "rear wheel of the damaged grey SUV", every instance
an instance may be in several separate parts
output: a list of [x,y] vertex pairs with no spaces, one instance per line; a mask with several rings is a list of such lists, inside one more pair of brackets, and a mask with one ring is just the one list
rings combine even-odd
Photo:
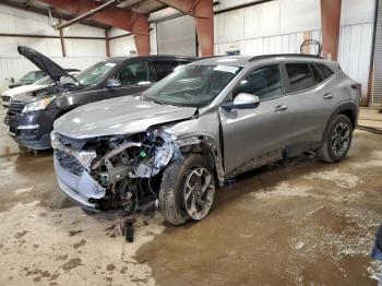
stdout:
[[353,124],[347,116],[338,115],[326,132],[324,144],[318,152],[320,160],[336,163],[346,157],[353,139]]

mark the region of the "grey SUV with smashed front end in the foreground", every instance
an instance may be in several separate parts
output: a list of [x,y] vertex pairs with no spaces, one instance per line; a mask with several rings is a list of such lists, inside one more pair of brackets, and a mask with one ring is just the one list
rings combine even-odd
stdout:
[[318,57],[200,60],[58,119],[58,182],[84,208],[157,204],[172,225],[200,221],[227,178],[308,151],[343,159],[359,102],[360,84]]

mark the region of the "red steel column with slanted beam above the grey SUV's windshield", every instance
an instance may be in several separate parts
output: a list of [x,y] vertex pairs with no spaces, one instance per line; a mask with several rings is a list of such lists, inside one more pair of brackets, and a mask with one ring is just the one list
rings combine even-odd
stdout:
[[195,19],[199,49],[202,57],[214,56],[213,0],[158,0]]

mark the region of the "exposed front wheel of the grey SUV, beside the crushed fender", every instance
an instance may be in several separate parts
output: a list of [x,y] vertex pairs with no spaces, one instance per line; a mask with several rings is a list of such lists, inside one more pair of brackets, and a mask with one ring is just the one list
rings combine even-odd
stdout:
[[164,171],[159,208],[168,223],[201,221],[210,212],[215,194],[213,168],[200,154],[171,163]]

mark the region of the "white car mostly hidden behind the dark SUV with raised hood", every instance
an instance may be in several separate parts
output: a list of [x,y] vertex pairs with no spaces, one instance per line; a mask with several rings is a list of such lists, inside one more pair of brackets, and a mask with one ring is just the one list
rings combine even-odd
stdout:
[[[69,72],[69,74],[71,74],[71,75],[75,75],[79,73],[80,73],[80,71]],[[65,79],[63,79],[62,81],[65,81]],[[13,98],[16,95],[21,95],[21,94],[33,95],[34,93],[38,93],[38,92],[45,90],[47,86],[52,85],[52,84],[53,84],[53,81],[49,78],[49,75],[47,75],[33,84],[21,85],[17,87],[10,88],[1,94],[2,107],[8,108],[10,105],[11,98]]]

